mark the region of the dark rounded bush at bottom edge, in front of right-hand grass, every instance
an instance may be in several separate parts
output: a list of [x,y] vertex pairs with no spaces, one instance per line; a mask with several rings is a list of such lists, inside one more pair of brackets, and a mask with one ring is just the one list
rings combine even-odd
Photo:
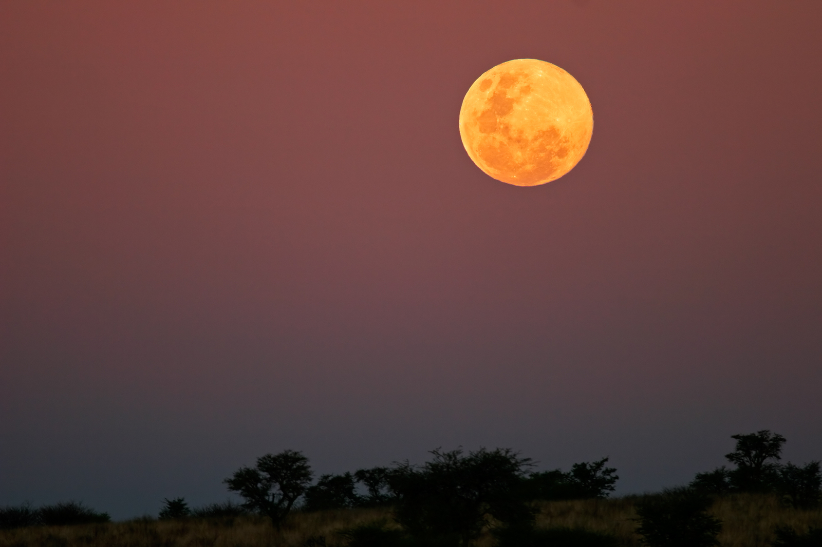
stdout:
[[636,533],[649,547],[713,547],[722,522],[708,514],[711,499],[698,491],[677,488],[647,496],[636,504]]

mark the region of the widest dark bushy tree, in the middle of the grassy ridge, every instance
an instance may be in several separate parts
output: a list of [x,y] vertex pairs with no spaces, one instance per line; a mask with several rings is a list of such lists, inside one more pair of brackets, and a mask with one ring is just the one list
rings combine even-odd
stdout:
[[520,495],[530,458],[509,448],[463,455],[461,449],[432,451],[420,467],[399,464],[389,474],[398,495],[395,518],[413,536],[453,538],[468,545],[496,520],[529,526],[533,509]]

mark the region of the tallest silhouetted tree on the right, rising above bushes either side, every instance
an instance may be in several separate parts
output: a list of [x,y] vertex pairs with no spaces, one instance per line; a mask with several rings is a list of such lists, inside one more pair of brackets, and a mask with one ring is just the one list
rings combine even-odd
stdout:
[[728,462],[737,465],[730,472],[730,482],[742,492],[768,492],[778,481],[778,461],[782,457],[785,438],[770,430],[731,435],[737,440],[737,449],[726,454]]

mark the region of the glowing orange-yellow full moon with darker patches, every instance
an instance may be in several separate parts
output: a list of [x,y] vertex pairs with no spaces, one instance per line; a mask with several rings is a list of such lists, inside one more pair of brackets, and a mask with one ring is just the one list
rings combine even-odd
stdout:
[[503,62],[473,82],[459,136],[473,163],[498,181],[537,186],[569,172],[593,133],[588,95],[550,62]]

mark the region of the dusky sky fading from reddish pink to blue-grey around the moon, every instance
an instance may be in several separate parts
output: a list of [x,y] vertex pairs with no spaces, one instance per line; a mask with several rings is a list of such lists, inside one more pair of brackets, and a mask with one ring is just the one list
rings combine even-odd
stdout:
[[[822,3],[2,2],[0,505],[123,519],[301,450],[508,447],[617,494],[822,459]],[[569,71],[561,179],[459,138]]]

